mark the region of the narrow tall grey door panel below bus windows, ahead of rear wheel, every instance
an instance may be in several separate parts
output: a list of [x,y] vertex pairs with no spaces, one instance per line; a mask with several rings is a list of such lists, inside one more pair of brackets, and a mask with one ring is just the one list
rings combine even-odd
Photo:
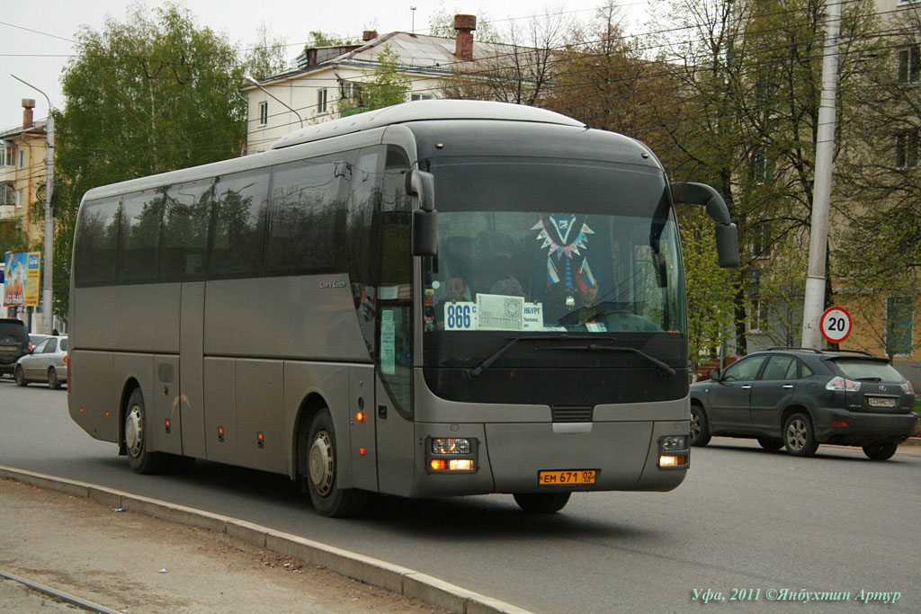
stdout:
[[180,311],[179,384],[173,401],[181,423],[182,451],[205,458],[204,450],[204,282],[182,284]]

